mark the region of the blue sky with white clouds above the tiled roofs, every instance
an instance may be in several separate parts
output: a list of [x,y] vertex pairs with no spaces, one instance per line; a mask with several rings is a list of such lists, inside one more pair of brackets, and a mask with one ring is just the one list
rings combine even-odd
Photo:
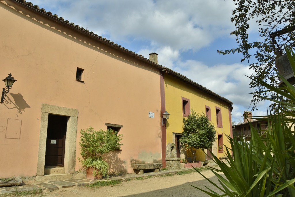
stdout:
[[[231,100],[232,120],[251,110],[252,90],[248,62],[241,54],[219,55],[217,50],[237,47],[230,21],[235,8],[230,0],[32,0],[34,5],[88,29],[148,58]],[[257,36],[257,24],[251,25]],[[209,74],[208,74],[209,73]],[[253,115],[266,115],[261,102]]]

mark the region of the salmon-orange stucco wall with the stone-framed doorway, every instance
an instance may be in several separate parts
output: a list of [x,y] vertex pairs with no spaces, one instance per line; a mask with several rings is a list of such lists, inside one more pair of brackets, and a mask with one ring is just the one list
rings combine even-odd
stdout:
[[[0,18],[0,79],[11,73],[17,80],[0,104],[0,177],[36,175],[43,103],[78,110],[75,170],[81,129],[106,130],[105,123],[123,125],[113,173],[133,173],[134,160],[161,162],[156,67],[11,1],[0,1]],[[19,133],[6,133],[8,119],[21,122]]]

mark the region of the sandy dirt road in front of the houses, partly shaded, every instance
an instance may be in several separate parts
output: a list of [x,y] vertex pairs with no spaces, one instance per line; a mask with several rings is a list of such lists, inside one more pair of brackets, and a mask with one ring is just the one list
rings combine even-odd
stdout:
[[[211,170],[204,170],[202,173],[215,183],[217,178]],[[45,193],[42,196],[62,196],[62,197],[89,197],[89,196],[155,196],[155,197],[190,197],[190,196],[209,196],[191,185],[204,188],[204,185],[217,191],[206,179],[199,173],[190,173],[186,175],[152,177],[144,180],[132,180],[122,182],[116,186],[107,186],[99,188],[75,187],[60,188],[57,191]]]

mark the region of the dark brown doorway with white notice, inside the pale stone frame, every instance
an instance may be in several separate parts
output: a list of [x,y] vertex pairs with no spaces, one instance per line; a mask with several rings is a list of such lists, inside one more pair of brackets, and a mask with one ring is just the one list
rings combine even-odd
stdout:
[[48,115],[45,166],[63,166],[67,116]]

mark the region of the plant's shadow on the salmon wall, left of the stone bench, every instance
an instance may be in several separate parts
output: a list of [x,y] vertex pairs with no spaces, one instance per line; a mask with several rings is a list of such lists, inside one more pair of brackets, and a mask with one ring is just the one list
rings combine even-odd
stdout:
[[104,160],[109,164],[109,174],[110,175],[120,175],[127,174],[125,168],[126,162],[119,158],[120,150],[111,151],[106,153],[103,157]]

